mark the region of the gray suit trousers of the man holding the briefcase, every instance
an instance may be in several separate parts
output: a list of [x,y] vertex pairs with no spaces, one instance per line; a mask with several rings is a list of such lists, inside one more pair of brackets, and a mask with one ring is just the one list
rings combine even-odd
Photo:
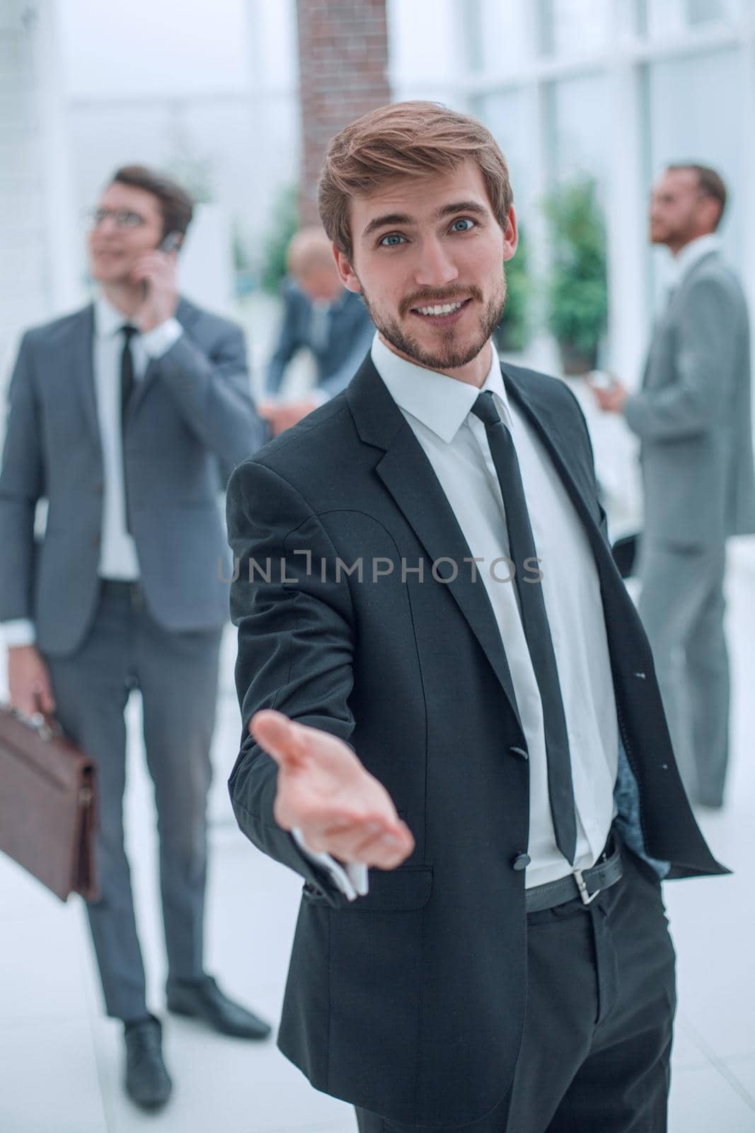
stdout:
[[145,972],[123,847],[125,709],[138,688],[155,786],[169,980],[203,973],[206,800],[221,629],[169,631],[140,587],[103,583],[94,623],[69,657],[49,657],[58,718],[98,767],[101,898],[87,905],[108,1014],[147,1012]]

